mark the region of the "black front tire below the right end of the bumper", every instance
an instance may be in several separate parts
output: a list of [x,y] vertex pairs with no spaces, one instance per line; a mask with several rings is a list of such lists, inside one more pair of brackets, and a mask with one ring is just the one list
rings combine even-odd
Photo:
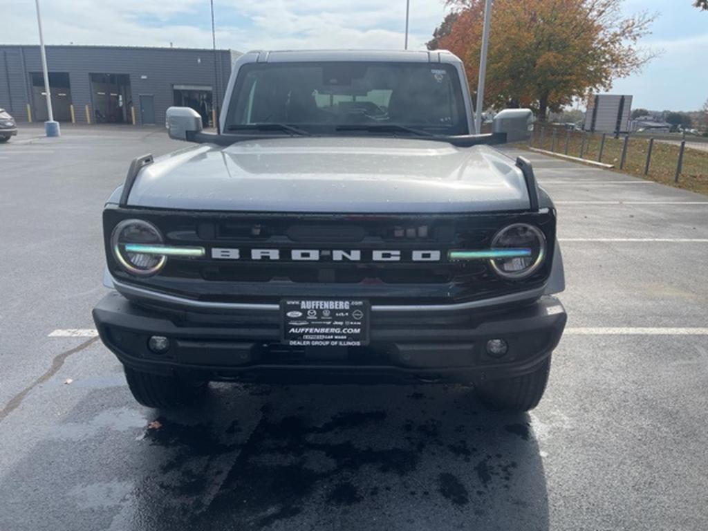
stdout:
[[475,387],[479,400],[495,411],[529,411],[534,409],[546,390],[551,370],[551,356],[527,375],[484,382]]

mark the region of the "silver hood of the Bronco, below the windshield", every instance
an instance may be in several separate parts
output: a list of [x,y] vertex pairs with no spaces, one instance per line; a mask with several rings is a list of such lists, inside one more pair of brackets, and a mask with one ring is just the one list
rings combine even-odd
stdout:
[[247,212],[527,210],[523,173],[486,146],[391,137],[201,144],[155,159],[128,205]]

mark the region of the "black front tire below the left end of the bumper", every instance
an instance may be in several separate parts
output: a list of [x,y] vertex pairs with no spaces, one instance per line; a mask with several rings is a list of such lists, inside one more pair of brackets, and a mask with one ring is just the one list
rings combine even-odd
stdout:
[[153,375],[130,367],[124,369],[133,398],[149,408],[185,406],[198,399],[207,389],[208,382]]

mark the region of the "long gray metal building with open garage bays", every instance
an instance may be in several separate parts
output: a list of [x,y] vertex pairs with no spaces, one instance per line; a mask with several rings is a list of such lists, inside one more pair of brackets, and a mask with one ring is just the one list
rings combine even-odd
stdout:
[[[234,50],[47,46],[55,120],[164,123],[171,105],[190,106],[211,125],[221,108]],[[0,45],[0,108],[18,121],[47,120],[39,46]]]

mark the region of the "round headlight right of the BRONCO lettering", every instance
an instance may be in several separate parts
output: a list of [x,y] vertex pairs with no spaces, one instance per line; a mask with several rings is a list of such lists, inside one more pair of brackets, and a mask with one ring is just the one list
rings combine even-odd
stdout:
[[509,255],[489,261],[496,274],[520,280],[541,267],[546,258],[546,236],[533,225],[515,223],[496,233],[491,248],[493,251],[505,251]]

